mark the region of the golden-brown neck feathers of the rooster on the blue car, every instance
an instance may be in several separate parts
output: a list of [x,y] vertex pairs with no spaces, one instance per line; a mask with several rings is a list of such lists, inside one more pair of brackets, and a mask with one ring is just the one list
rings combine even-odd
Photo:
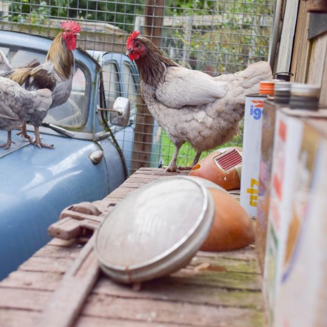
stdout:
[[74,65],[74,55],[69,51],[66,46],[66,41],[59,33],[53,40],[48,54],[46,55],[45,62],[51,61],[55,71],[63,79],[68,79]]

